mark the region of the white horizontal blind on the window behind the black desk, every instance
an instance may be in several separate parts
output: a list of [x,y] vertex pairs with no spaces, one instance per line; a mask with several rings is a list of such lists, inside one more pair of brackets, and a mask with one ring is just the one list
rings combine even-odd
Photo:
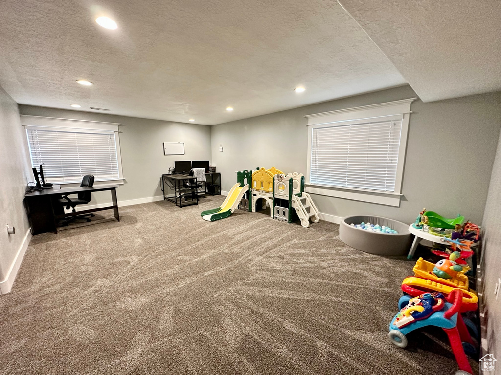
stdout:
[[80,182],[85,174],[96,180],[120,178],[116,133],[98,130],[26,129],[32,167],[44,167],[53,183]]

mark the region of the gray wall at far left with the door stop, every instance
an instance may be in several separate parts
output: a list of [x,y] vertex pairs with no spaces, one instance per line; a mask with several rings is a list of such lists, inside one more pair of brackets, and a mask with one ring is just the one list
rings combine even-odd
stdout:
[[[23,206],[28,162],[18,104],[0,87],[0,282],[5,281],[28,233]],[[6,224],[16,227],[8,235]]]

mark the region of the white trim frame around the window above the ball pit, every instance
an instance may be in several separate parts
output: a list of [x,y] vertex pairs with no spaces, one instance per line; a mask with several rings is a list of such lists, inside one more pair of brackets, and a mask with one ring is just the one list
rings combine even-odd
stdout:
[[[330,112],[308,114],[308,164],[306,173],[306,191],[312,194],[334,196],[345,199],[361,200],[365,202],[386,204],[398,206],[400,205],[400,197],[402,196],[402,180],[403,170],[405,165],[405,153],[407,149],[407,134],[409,130],[409,116],[411,103],[416,100],[416,97],[409,99],[389,101],[386,103],[365,105],[355,108],[347,108],[333,110]],[[397,175],[395,180],[394,192],[383,192],[375,190],[356,189],[340,186],[326,186],[310,183],[310,168],[311,168],[311,147],[312,147],[312,130],[319,127],[329,127],[336,122],[354,123],[361,119],[369,119],[375,117],[395,117],[402,119],[402,128],[400,132],[400,147],[398,151]]]

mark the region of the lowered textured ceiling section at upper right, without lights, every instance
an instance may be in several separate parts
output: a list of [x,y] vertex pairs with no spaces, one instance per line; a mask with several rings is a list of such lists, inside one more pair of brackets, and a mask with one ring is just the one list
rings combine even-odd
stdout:
[[501,1],[339,2],[422,100],[501,90]]

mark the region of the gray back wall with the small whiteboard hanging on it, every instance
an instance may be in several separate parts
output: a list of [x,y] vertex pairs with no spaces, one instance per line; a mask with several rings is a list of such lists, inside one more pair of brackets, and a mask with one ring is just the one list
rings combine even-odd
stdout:
[[[174,160],[210,160],[210,126],[116,116],[104,113],[20,105],[21,114],[119,122],[122,168],[126,181],[119,201],[162,195],[160,176]],[[184,142],[185,155],[164,155],[163,142]],[[93,194],[93,203],[110,201],[109,192]]]

